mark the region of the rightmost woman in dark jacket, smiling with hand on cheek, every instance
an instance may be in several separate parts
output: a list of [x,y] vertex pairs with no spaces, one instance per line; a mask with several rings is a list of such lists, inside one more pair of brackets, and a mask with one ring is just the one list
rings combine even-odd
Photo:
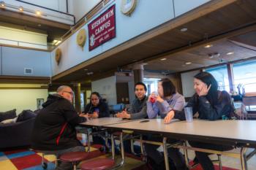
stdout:
[[[198,112],[202,120],[221,120],[233,115],[234,107],[226,91],[219,91],[217,81],[208,72],[200,72],[194,79],[195,95],[189,100],[187,107],[193,108],[193,115]],[[176,112],[175,118],[185,120],[184,112]],[[233,147],[208,144],[203,142],[189,142],[192,147],[209,150],[232,150]],[[204,170],[214,170],[214,165],[206,152],[195,152],[196,158]]]

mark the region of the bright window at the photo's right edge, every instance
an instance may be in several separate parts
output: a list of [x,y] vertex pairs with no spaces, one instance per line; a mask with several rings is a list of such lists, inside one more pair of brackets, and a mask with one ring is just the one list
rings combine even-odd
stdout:
[[246,61],[233,64],[234,90],[238,86],[244,88],[245,93],[256,91],[256,61]]

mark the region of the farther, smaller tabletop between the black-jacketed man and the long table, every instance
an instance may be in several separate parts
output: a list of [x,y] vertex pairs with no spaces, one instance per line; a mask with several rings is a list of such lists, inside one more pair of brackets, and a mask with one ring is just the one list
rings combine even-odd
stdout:
[[123,120],[122,118],[118,117],[102,117],[97,119],[87,120],[84,123],[80,123],[82,126],[102,126],[102,125],[112,125],[116,123],[126,123],[132,120]]

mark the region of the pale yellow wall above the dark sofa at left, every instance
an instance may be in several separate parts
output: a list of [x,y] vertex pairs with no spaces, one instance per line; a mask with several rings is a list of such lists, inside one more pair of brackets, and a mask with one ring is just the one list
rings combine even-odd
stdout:
[[[37,109],[37,98],[48,97],[47,89],[33,89],[41,85],[0,85],[0,112],[17,109],[17,114],[23,109]],[[10,89],[6,89],[6,87]],[[31,87],[31,89],[22,89]],[[17,89],[20,88],[20,89]]]

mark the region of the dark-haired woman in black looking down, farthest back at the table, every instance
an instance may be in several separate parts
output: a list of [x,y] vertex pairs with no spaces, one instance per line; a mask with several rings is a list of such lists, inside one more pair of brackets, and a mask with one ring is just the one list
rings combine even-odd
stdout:
[[[108,109],[108,104],[102,100],[101,96],[98,92],[91,93],[90,96],[90,103],[86,105],[86,108],[83,112],[84,114],[88,115],[89,118],[101,118],[101,117],[110,117],[110,112]],[[93,129],[93,131],[97,131]],[[105,140],[102,139],[101,136],[93,136],[94,144],[102,144],[105,146]],[[102,147],[101,150],[104,150]]]

